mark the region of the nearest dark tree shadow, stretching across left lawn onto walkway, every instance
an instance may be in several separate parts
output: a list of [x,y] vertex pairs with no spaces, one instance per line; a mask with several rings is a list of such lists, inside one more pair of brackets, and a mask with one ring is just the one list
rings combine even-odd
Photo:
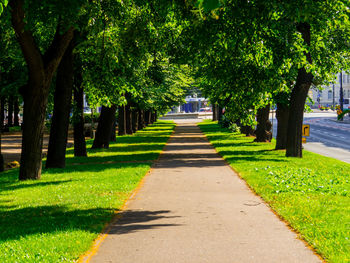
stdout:
[[[142,224],[167,217],[169,211],[128,211],[117,221],[111,233],[126,234],[175,224]],[[107,208],[68,210],[65,206],[37,206],[3,211],[0,207],[0,242],[28,235],[83,230],[100,233],[106,222],[115,215]]]

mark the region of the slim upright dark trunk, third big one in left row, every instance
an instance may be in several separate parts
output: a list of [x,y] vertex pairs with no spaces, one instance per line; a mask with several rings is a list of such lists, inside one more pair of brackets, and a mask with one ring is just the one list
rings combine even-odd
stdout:
[[87,156],[87,152],[84,135],[84,88],[81,85],[81,76],[76,75],[76,79],[80,79],[74,88],[73,108],[74,156],[77,157]]

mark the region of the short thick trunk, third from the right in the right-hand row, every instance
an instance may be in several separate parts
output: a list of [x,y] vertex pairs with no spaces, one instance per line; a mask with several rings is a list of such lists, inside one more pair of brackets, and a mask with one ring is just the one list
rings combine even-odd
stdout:
[[269,121],[270,105],[258,109],[257,126],[255,130],[256,142],[270,142],[271,141],[271,123]]

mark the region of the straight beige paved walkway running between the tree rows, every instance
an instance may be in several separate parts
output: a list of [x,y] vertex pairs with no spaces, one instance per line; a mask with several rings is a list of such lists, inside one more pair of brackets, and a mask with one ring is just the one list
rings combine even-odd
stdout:
[[321,261],[194,123],[180,123],[91,262]]

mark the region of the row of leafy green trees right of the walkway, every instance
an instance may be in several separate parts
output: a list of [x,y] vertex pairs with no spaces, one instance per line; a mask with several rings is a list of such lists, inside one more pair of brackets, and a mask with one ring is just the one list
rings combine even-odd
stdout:
[[269,108],[277,105],[276,149],[302,157],[310,88],[350,69],[349,1],[199,2],[179,41],[188,44],[185,56],[206,96],[246,134],[257,119],[257,141],[269,140]]

